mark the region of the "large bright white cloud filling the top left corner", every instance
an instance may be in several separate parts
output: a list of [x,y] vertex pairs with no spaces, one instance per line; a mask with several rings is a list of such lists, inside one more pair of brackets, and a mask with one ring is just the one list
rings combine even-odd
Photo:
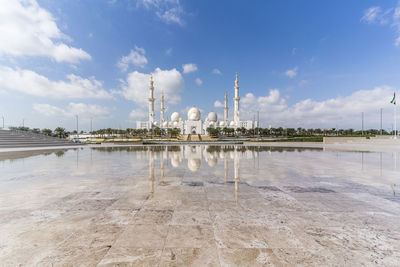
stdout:
[[36,0],[0,0],[0,57],[46,56],[57,62],[90,59],[81,48],[66,45],[70,38]]

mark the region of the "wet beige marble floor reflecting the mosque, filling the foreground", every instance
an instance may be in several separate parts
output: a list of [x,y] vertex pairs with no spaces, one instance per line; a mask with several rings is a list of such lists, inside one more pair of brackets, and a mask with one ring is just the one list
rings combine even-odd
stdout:
[[0,266],[400,265],[396,153],[18,153],[0,157]]

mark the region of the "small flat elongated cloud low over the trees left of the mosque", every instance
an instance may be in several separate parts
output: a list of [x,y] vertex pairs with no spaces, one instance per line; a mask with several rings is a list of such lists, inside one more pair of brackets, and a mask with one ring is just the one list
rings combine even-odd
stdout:
[[73,117],[83,115],[85,117],[107,117],[110,112],[107,107],[84,103],[69,103],[67,107],[60,108],[50,104],[34,104],[33,109],[49,117]]

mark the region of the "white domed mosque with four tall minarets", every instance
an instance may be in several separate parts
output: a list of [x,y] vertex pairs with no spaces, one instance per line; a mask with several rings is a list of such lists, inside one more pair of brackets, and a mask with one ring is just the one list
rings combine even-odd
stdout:
[[153,75],[150,76],[150,86],[149,86],[149,120],[148,121],[137,121],[136,128],[137,129],[153,129],[155,127],[160,127],[161,129],[172,129],[178,128],[181,131],[181,134],[207,134],[207,128],[241,128],[249,130],[253,127],[257,127],[257,122],[253,122],[251,120],[241,121],[240,120],[240,112],[239,112],[239,80],[238,75],[236,73],[235,79],[235,97],[234,101],[234,113],[233,120],[229,121],[228,119],[228,95],[225,90],[225,99],[224,99],[224,118],[223,120],[218,120],[218,116],[215,112],[208,113],[205,121],[201,120],[200,110],[193,106],[189,109],[187,113],[187,119],[183,120],[181,115],[178,112],[173,112],[171,114],[171,120],[168,121],[165,119],[165,106],[164,106],[164,91],[161,90],[161,108],[160,108],[160,122],[155,120],[154,116],[154,82]]

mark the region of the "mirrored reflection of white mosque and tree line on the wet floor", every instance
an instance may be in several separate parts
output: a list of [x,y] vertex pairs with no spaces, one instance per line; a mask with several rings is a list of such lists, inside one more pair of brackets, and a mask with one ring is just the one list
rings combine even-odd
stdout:
[[[192,173],[196,173],[202,168],[214,168],[218,162],[224,166],[224,184],[234,184],[234,194],[236,202],[239,197],[239,185],[247,184],[240,175],[241,160],[257,159],[260,152],[287,152],[303,150],[322,150],[304,148],[278,148],[267,146],[238,146],[238,145],[186,145],[186,146],[129,146],[129,147],[109,147],[93,148],[103,152],[127,151],[134,152],[140,161],[148,161],[148,175],[150,182],[150,196],[155,194],[155,182],[159,185],[167,185],[165,166],[175,168],[186,168]],[[159,163],[156,164],[156,161]],[[232,164],[233,161],[233,164]],[[204,164],[206,163],[206,164]],[[156,165],[159,165],[156,166]],[[229,168],[233,167],[233,179],[229,178]],[[156,177],[155,169],[160,170]],[[157,179],[156,179],[157,178]],[[222,177],[221,177],[222,178]],[[191,185],[203,184],[203,182],[191,182]]]

